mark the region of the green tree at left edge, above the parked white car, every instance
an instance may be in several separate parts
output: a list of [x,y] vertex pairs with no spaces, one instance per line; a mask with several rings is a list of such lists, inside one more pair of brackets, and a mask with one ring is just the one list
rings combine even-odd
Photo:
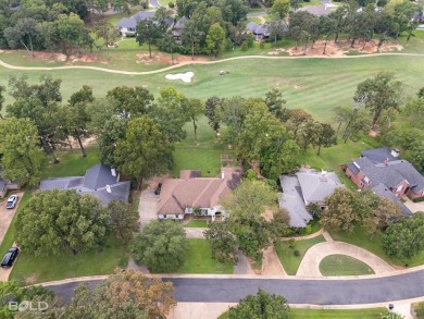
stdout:
[[8,118],[0,121],[0,165],[2,177],[20,185],[37,186],[41,179],[43,155],[37,127],[29,119]]

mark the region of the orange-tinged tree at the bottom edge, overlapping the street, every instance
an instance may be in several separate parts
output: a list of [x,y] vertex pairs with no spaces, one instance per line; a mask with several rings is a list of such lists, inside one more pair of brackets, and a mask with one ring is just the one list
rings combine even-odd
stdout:
[[158,318],[176,305],[173,292],[172,282],[130,269],[116,271],[93,290],[79,284],[71,303],[63,307],[63,315],[75,319]]

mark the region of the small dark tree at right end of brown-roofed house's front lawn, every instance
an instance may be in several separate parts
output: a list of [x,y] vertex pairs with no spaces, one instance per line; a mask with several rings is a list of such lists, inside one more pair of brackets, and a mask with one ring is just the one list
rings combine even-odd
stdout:
[[211,244],[212,258],[220,262],[237,262],[237,238],[230,232],[230,224],[227,221],[213,222],[203,232],[204,237]]

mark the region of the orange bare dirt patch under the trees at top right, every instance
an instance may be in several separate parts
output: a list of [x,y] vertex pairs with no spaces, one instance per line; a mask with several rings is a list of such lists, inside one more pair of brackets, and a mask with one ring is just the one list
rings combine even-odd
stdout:
[[[312,48],[310,45],[304,54],[302,46],[298,48],[287,49],[287,52],[290,56],[308,56],[308,57],[322,57],[324,52],[325,41],[316,41]],[[378,41],[371,40],[369,42],[357,41],[354,47],[350,46],[350,41],[344,40],[335,44],[334,41],[328,41],[325,49],[325,56],[328,57],[340,57],[345,56],[348,52],[358,52],[358,53],[376,53],[377,52]],[[391,41],[384,42],[379,48],[379,52],[391,52],[391,51],[401,51],[403,47],[399,44]]]

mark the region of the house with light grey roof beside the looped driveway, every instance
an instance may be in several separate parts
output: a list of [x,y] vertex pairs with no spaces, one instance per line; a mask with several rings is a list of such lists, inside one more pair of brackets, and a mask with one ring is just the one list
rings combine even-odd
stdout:
[[312,169],[301,169],[296,174],[282,175],[279,183],[283,194],[278,196],[278,204],[288,211],[291,228],[305,228],[312,220],[307,206],[315,204],[325,209],[325,198],[337,187],[345,187],[336,173]]

